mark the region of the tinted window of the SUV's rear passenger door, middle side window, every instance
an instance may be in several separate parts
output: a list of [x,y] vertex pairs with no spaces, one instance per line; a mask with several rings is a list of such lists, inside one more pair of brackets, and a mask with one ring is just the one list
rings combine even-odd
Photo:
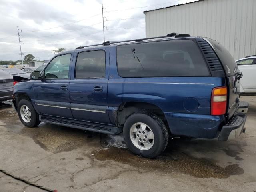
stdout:
[[104,78],[105,58],[103,50],[78,53],[75,78]]

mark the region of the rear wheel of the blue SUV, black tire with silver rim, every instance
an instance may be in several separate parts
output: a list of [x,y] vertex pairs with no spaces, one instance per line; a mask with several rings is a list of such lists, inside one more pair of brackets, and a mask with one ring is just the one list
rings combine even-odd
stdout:
[[164,152],[168,144],[168,130],[155,114],[135,113],[124,124],[124,139],[134,154],[154,158]]

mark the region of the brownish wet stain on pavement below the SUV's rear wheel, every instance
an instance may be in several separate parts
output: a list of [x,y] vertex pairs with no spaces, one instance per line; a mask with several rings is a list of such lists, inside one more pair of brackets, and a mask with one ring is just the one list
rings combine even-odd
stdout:
[[180,172],[197,178],[228,178],[231,175],[244,173],[244,170],[237,164],[222,168],[207,159],[194,158],[182,152],[165,153],[156,159],[142,158],[132,154],[128,149],[114,147],[109,150],[95,150],[92,153],[100,161],[114,160],[144,170],[153,169],[166,173]]

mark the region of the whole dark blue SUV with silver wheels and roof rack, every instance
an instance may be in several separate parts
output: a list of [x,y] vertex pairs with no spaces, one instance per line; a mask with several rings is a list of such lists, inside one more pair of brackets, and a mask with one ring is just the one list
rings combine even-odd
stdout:
[[188,34],[81,46],[30,78],[14,76],[21,122],[105,134],[123,132],[148,158],[172,136],[230,140],[245,132],[236,62],[221,44]]

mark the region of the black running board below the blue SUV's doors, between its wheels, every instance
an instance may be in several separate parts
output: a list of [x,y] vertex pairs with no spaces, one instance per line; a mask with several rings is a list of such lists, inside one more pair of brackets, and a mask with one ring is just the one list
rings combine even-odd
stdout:
[[114,126],[108,126],[108,125],[102,125],[102,124],[94,124],[94,123],[87,123],[87,122],[77,122],[74,120],[64,120],[62,118],[51,118],[46,116],[39,116],[39,120],[44,123],[49,124],[55,124],[60,126],[66,126],[76,129],[82,129],[87,131],[93,131],[98,133],[104,133],[104,134],[119,134],[122,132],[121,128],[114,127]]

